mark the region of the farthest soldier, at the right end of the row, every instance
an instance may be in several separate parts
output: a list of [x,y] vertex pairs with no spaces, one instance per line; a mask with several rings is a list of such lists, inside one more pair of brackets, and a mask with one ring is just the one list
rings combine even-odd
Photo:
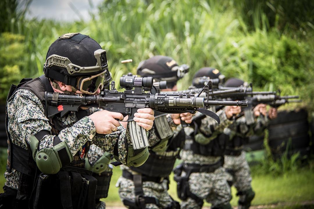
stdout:
[[[243,86],[244,82],[237,78],[226,81],[226,87]],[[268,122],[277,117],[277,109],[270,108],[267,114],[266,104],[258,104],[252,110],[251,107],[244,109],[244,116],[237,119],[232,125],[225,128],[221,140],[226,139],[225,164],[226,176],[229,185],[237,189],[239,196],[238,208],[246,209],[251,205],[255,193],[251,186],[250,167],[245,158],[243,145],[248,142],[248,137],[260,134]]]

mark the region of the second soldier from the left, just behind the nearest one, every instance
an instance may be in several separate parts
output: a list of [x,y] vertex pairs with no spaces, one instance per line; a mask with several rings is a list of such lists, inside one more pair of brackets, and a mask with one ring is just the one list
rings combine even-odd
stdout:
[[[181,68],[168,56],[154,56],[142,61],[137,72],[142,77],[152,76],[154,81],[167,81],[167,89],[176,91]],[[156,112],[157,113],[157,112]],[[184,143],[180,118],[191,123],[191,114],[155,113],[153,128],[149,131],[149,158],[137,168],[122,166],[122,176],[117,181],[119,195],[128,208],[179,208],[178,202],[168,194],[169,175]]]

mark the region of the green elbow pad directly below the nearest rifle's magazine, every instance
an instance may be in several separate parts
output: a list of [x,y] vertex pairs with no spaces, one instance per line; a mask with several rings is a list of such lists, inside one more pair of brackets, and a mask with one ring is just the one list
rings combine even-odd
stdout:
[[128,146],[127,151],[127,166],[138,167],[145,163],[149,156],[148,147],[141,149],[133,149],[133,146]]

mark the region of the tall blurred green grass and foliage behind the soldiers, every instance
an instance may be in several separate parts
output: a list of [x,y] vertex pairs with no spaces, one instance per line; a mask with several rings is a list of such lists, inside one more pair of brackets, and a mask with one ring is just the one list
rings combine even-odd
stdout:
[[[10,32],[24,36],[24,64],[20,66],[24,77],[42,73],[48,47],[60,35],[81,32],[107,50],[115,81],[126,72],[136,73],[141,60],[162,54],[190,65],[189,76],[178,83],[181,89],[189,86],[199,68],[211,66],[227,77],[252,82],[256,90],[280,88],[282,94],[300,94],[304,104],[313,109],[311,4],[283,0],[105,0],[97,6],[97,13],[90,13],[90,21],[19,18],[15,21],[19,30]],[[130,58],[133,63],[121,64]]]

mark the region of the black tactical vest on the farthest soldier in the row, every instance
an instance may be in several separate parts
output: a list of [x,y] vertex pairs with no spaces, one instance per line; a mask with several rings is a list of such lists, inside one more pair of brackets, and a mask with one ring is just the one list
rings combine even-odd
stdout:
[[229,138],[229,135],[220,134],[219,140],[226,142],[225,155],[239,156],[243,150],[243,145],[249,142],[248,137],[239,137],[235,136],[232,139]]

